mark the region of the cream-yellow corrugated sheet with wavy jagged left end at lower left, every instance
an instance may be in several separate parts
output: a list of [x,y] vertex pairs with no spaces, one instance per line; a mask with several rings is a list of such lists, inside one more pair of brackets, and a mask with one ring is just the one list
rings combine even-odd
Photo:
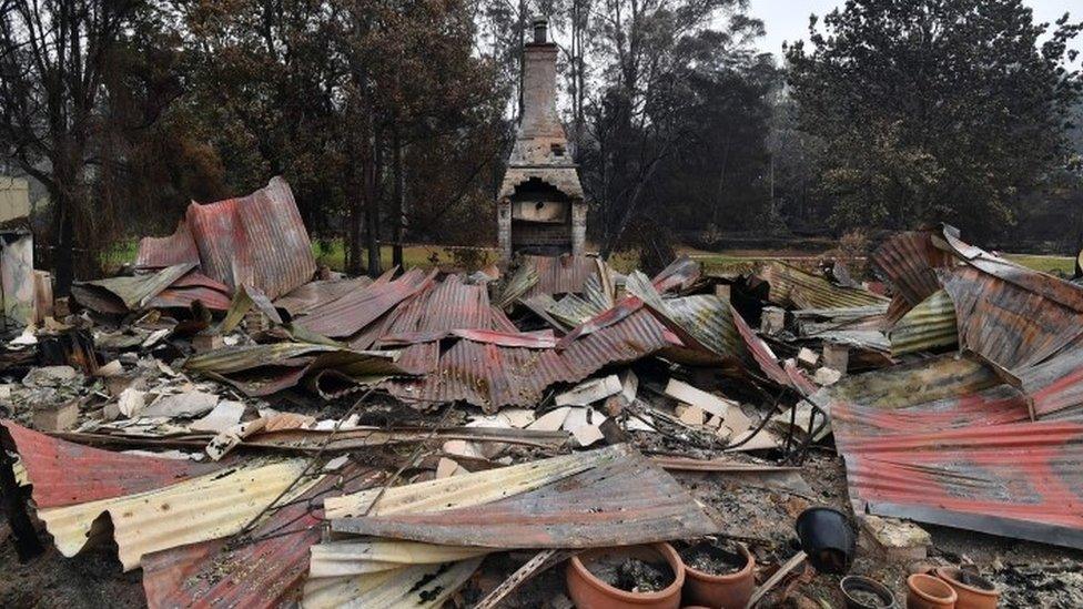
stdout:
[[[94,521],[110,517],[124,570],[143,555],[229,537],[271,504],[304,470],[306,459],[246,461],[164,488],[38,510],[57,549],[71,557],[87,544]],[[296,495],[308,485],[298,485]]]

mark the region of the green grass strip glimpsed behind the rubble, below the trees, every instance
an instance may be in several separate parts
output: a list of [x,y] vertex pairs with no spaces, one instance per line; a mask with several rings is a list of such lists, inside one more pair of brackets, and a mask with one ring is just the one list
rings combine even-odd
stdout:
[[[456,248],[443,247],[439,245],[413,245],[403,251],[403,258],[406,267],[417,266],[431,268],[435,262],[441,267],[462,266],[462,255],[456,256]],[[124,264],[135,261],[136,242],[125,241],[102,255],[102,266],[107,274],[115,273]],[[316,241],[312,244],[312,253],[316,262],[326,265],[335,271],[342,271],[345,261],[345,251],[342,241]],[[687,254],[698,261],[708,271],[742,271],[751,267],[758,262],[768,260],[787,260],[800,257],[814,257],[808,253],[791,251],[753,251],[753,250],[732,250],[723,252],[702,252],[692,248],[682,248],[680,253]],[[479,261],[479,266],[496,262],[497,252],[495,248],[484,250],[484,257]],[[367,256],[367,252],[364,254]],[[385,268],[391,266],[391,246],[381,247],[381,260]],[[1067,256],[1044,256],[1033,254],[1005,254],[1009,260],[1046,273],[1063,273],[1071,275],[1075,270],[1075,260]],[[627,273],[636,267],[638,263],[636,252],[618,252],[610,257],[610,264],[619,272]],[[365,258],[367,260],[367,257]]]

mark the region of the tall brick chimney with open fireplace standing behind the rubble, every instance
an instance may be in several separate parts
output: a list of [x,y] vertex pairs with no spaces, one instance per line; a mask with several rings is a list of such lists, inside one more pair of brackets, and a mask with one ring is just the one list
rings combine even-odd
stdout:
[[548,21],[534,21],[523,49],[523,115],[497,197],[500,248],[532,254],[583,254],[586,203],[557,114],[557,45]]

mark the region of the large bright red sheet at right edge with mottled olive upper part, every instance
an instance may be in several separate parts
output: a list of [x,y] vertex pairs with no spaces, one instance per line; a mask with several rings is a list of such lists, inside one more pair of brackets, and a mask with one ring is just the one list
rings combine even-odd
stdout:
[[1019,390],[950,356],[848,377],[812,399],[831,414],[859,512],[1083,548],[1079,408],[1031,422]]

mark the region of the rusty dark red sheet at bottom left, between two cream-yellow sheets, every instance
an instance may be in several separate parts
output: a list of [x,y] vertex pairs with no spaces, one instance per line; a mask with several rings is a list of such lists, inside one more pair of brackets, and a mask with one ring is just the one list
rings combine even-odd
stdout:
[[[301,597],[310,548],[323,532],[321,499],[354,491],[378,473],[347,466],[256,526],[247,544],[205,541],[143,557],[143,590],[152,608],[281,607]],[[342,485],[342,488],[340,488]]]

